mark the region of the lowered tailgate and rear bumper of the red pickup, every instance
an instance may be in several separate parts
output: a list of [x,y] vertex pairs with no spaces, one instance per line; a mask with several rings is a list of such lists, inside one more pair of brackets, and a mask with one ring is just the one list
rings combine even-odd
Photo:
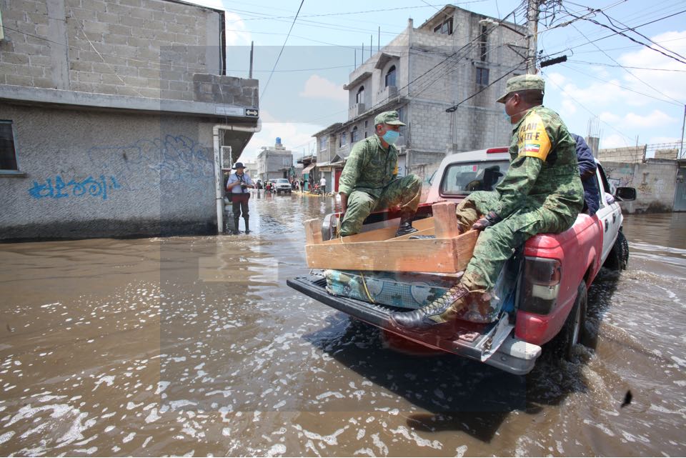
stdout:
[[[507,314],[504,314],[502,319],[496,323],[475,324],[462,322],[464,323],[464,326],[452,329],[450,334],[440,334],[435,331],[414,333],[409,332],[406,329],[398,329],[390,324],[389,315],[397,310],[394,309],[394,307],[388,307],[381,304],[369,304],[368,302],[357,299],[338,297],[329,294],[326,289],[327,281],[322,276],[308,275],[306,277],[296,277],[288,279],[286,284],[289,287],[312,297],[312,299],[322,302],[322,304],[326,304],[329,307],[349,314],[351,317],[373,324],[388,332],[392,332],[427,347],[458,354],[459,356],[475,359],[479,362],[485,362],[486,364],[490,364],[490,359],[493,359],[494,356],[499,354],[499,349],[504,342],[508,342],[508,345],[510,346],[515,343],[512,342],[511,337],[514,325],[509,323]],[[529,372],[539,354],[540,348],[538,352],[534,352],[530,355],[532,356],[530,364],[528,362],[523,365],[520,364],[522,367],[513,368],[515,370],[508,372]],[[490,365],[507,371],[507,367],[503,366],[509,364],[502,364],[502,362],[507,359],[512,359],[512,355],[506,356],[507,358],[505,359],[502,359],[502,357],[499,359],[500,364],[494,361],[496,364]],[[515,359],[517,359],[517,357],[515,357]]]

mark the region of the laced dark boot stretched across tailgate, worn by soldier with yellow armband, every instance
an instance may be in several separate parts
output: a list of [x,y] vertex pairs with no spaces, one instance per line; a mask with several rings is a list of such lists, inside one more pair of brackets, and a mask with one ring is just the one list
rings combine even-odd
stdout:
[[392,313],[391,322],[396,327],[410,329],[427,329],[436,324],[448,322],[457,317],[457,312],[464,308],[467,294],[469,294],[469,290],[462,284],[457,284],[442,297],[421,309],[412,312]]

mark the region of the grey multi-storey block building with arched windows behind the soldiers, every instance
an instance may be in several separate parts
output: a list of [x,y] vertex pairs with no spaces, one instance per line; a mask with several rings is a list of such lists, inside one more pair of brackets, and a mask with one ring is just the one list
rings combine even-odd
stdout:
[[337,185],[352,146],[374,134],[374,116],[392,109],[407,124],[397,143],[401,175],[449,153],[509,144],[511,126],[495,100],[508,77],[525,73],[525,51],[522,26],[457,6],[417,29],[410,19],[350,74],[347,121],[314,134],[317,168]]

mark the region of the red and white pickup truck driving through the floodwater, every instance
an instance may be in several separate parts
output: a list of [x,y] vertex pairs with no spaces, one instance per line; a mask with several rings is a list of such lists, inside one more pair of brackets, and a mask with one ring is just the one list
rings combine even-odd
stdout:
[[[460,201],[470,192],[490,190],[509,167],[507,148],[492,148],[446,156],[429,180],[427,203],[416,219],[431,215],[437,201]],[[443,332],[410,332],[389,322],[397,309],[358,299],[329,294],[322,272],[287,280],[289,287],[351,317],[373,324],[387,334],[430,349],[476,359],[513,374],[533,369],[542,344],[557,337],[568,356],[579,342],[586,313],[587,289],[600,267],[625,269],[629,250],[622,234],[622,210],[618,200],[635,199],[633,188],[610,189],[602,166],[597,174],[600,209],[594,216],[580,214],[575,224],[561,234],[539,234],[515,250],[496,286],[502,301],[492,323],[457,320]],[[338,214],[324,219],[322,237],[330,239]],[[365,220],[364,230],[397,224],[397,214],[384,211]]]

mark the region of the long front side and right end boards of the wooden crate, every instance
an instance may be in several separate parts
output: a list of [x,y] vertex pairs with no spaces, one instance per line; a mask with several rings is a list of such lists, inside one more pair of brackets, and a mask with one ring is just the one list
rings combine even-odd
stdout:
[[[428,229],[428,228],[427,228]],[[479,237],[469,231],[452,239],[390,239],[343,244],[309,244],[305,247],[311,269],[437,272],[464,270]]]

